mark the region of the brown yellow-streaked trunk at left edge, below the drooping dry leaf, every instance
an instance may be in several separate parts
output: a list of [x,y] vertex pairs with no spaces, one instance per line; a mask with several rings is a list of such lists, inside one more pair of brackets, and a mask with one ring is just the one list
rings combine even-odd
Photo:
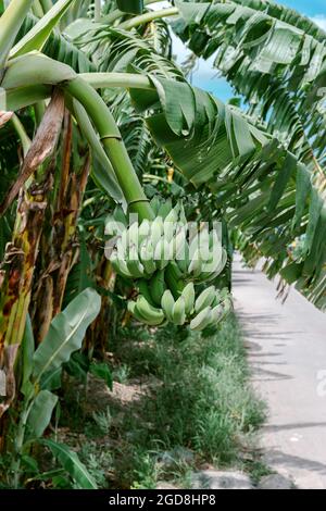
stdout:
[[5,396],[0,419],[15,398],[14,363],[22,342],[32,281],[42,232],[46,187],[22,192],[12,242],[7,246],[1,265],[0,371],[5,375]]

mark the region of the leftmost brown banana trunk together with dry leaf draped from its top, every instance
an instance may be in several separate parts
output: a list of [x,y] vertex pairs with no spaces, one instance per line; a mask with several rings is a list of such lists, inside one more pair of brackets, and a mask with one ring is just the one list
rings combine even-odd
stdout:
[[[1,432],[3,434],[3,414],[16,395],[18,375],[15,375],[15,361],[26,325],[51,180],[51,165],[43,163],[57,147],[63,120],[63,104],[62,95],[54,91],[24,159],[21,174],[1,204],[4,212],[17,192],[20,194],[13,237],[7,246],[0,273],[0,372],[4,381],[0,398],[0,436]],[[0,439],[1,444],[2,440]]]

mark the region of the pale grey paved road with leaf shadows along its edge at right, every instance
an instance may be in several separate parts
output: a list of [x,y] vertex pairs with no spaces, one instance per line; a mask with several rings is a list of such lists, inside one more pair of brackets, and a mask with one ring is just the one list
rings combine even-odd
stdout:
[[299,488],[326,489],[326,314],[292,290],[285,304],[260,271],[235,262],[236,308],[269,417],[267,463]]

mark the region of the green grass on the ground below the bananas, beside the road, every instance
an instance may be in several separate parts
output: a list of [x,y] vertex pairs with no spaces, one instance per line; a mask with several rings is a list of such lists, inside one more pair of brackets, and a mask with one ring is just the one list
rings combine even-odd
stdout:
[[241,466],[259,477],[262,468],[250,452],[265,406],[249,384],[234,316],[204,335],[133,325],[118,332],[110,350],[114,381],[143,384],[147,391],[128,404],[100,401],[102,409],[79,422],[88,439],[79,456],[100,487],[154,488],[158,481],[173,481],[189,488],[191,471],[204,463]]

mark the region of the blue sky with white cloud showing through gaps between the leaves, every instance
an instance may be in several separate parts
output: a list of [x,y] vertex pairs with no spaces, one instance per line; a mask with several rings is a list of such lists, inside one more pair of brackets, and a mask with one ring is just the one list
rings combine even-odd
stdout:
[[[305,14],[326,30],[326,0],[281,0],[279,3]],[[187,55],[187,49],[177,39],[174,42],[174,52],[178,58],[178,62],[185,60]],[[199,61],[198,68],[193,74],[192,84],[213,92],[223,101],[233,96],[231,88],[226,80],[216,77],[216,70],[212,68],[212,61]]]

